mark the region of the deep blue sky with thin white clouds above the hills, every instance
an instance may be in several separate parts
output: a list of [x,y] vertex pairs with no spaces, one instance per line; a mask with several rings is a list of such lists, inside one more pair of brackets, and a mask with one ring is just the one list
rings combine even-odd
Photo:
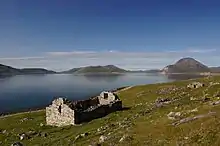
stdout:
[[217,0],[2,0],[0,63],[65,70],[220,66]]

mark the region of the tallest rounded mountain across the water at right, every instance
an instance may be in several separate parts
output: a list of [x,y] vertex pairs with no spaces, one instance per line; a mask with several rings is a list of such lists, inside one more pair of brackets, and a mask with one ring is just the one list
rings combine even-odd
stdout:
[[210,72],[209,67],[193,58],[182,58],[173,65],[168,65],[162,70],[163,73],[201,73]]

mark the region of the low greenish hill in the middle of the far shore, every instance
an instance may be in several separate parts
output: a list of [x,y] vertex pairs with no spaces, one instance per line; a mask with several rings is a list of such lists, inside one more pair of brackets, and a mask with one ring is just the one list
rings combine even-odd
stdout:
[[90,73],[125,73],[127,72],[124,69],[116,67],[114,65],[106,65],[106,66],[87,66],[81,68],[73,68],[68,71],[64,71],[62,73],[67,74],[90,74]]

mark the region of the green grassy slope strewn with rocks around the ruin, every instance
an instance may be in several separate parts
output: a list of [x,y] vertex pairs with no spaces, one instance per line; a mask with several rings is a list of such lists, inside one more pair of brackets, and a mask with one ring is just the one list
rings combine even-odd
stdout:
[[[220,77],[197,79],[205,87],[187,89],[193,81],[120,91],[127,109],[77,126],[45,126],[44,110],[1,117],[0,145],[220,145]],[[168,102],[155,106],[158,98]],[[20,140],[22,133],[28,137]]]

